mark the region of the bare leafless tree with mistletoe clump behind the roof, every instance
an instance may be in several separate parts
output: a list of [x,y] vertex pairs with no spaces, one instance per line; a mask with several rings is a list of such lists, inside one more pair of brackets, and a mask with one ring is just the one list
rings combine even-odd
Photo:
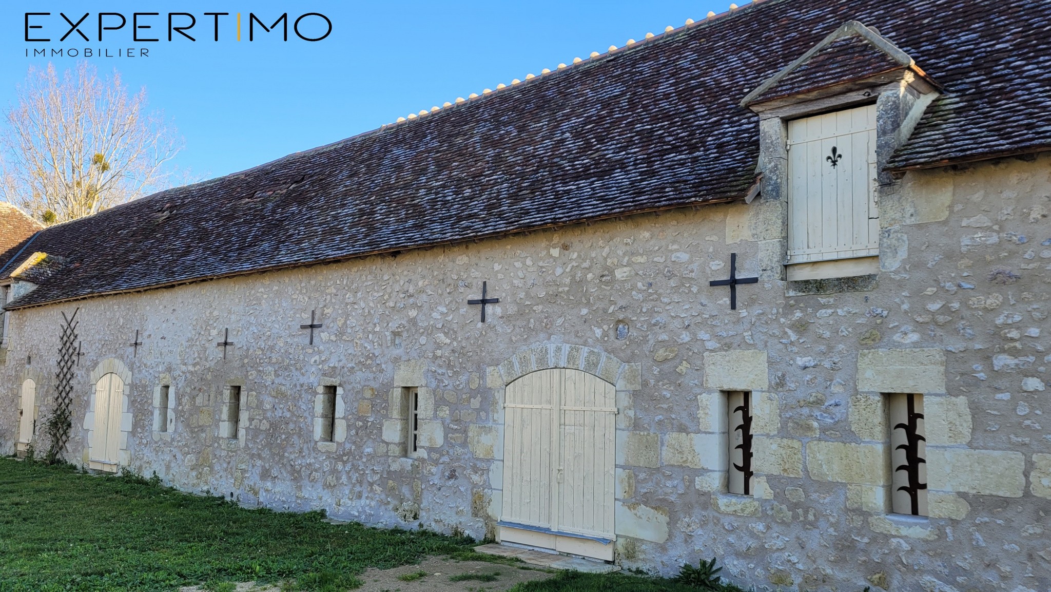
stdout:
[[119,74],[100,80],[80,62],[60,78],[29,68],[0,132],[0,199],[45,224],[96,213],[167,186],[182,148],[173,128],[129,95]]

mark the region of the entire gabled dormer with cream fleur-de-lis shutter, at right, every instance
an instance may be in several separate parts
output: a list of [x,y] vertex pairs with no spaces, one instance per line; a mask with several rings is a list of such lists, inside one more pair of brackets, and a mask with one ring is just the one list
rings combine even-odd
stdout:
[[[789,292],[873,285],[891,231],[880,225],[880,192],[894,183],[884,167],[937,88],[893,42],[848,21],[741,102],[759,115],[763,201],[786,204]],[[854,280],[823,282],[843,278]]]

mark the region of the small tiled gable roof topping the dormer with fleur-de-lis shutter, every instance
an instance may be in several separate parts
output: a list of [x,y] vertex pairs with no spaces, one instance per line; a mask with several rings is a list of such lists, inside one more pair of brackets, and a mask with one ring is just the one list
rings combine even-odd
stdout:
[[845,85],[844,90],[890,82],[911,70],[932,85],[915,61],[889,39],[859,21],[847,21],[741,101],[742,106],[804,96]]

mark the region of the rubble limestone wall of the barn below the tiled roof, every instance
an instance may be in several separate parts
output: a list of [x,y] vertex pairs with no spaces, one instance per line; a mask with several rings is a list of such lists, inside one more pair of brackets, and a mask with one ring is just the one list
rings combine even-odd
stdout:
[[[1049,165],[908,173],[881,197],[893,249],[866,285],[781,281],[783,203],[757,200],[15,311],[0,451],[14,451],[30,369],[48,412],[60,311],[80,307],[75,413],[90,410],[91,370],[122,361],[132,469],[246,505],[481,537],[502,502],[503,389],[564,365],[617,388],[625,567],[671,574],[715,555],[760,589],[1044,591]],[[730,252],[740,277],[761,278],[737,310],[708,285]],[[483,281],[500,299],[485,324],[467,304]],[[300,328],[311,310],[313,345]],[[314,430],[326,386],[346,429],[332,442]],[[727,390],[750,393],[750,496],[726,489]],[[925,401],[929,517],[889,512],[886,396],[907,391]],[[89,426],[75,424],[67,458]]]

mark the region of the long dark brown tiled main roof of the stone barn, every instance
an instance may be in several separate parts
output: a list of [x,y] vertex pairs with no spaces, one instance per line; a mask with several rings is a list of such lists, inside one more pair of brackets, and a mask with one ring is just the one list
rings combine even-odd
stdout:
[[766,0],[414,121],[53,226],[32,250],[60,257],[61,268],[15,305],[743,197],[759,142],[741,100],[850,20],[878,28],[945,89],[893,166],[1051,149],[1044,3]]

